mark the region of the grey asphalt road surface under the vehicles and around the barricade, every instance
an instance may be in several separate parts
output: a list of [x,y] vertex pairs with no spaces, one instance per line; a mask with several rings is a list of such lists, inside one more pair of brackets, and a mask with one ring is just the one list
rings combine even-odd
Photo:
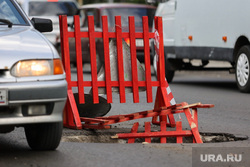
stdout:
[[[86,71],[85,71],[86,72]],[[89,75],[88,71],[86,75]],[[250,136],[249,94],[240,93],[234,75],[227,72],[177,72],[170,84],[177,103],[202,102],[214,104],[211,109],[199,109],[199,131],[211,133],[230,133]],[[133,104],[131,97],[127,103],[119,104],[114,99],[109,115],[126,114],[152,109],[146,103],[145,94],[140,93],[141,102]],[[117,100],[117,101],[116,101]],[[143,126],[144,120],[140,120]],[[131,128],[132,122],[117,125],[115,128]],[[184,125],[185,126],[185,125]],[[70,131],[65,129],[64,131]],[[248,159],[250,139],[234,142],[204,144],[119,144],[119,143],[79,143],[61,142],[56,151],[31,151],[26,143],[22,128],[14,132],[0,134],[0,167],[75,167],[75,166],[195,166],[195,149],[214,148],[217,153],[228,149],[232,153],[240,148],[243,160]],[[75,132],[76,134],[81,131]],[[105,132],[104,132],[105,133]],[[204,163],[202,166],[218,166],[217,163]],[[242,163],[223,162],[219,166],[250,166],[249,160]]]

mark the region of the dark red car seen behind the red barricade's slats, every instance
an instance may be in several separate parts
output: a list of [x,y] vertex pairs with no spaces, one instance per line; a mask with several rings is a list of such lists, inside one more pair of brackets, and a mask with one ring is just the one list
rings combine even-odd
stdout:
[[[142,16],[148,16],[149,30],[152,30],[152,23],[155,15],[156,7],[150,5],[128,4],[128,3],[102,3],[83,5],[79,8],[80,13],[83,14],[83,24],[81,31],[88,31],[87,16],[93,15],[95,21],[95,31],[102,31],[101,17],[106,15],[108,17],[109,31],[115,31],[115,16],[121,16],[122,30],[128,31],[128,16],[134,16],[136,31],[142,31]],[[90,63],[89,41],[87,38],[82,38],[82,54],[83,63]],[[128,41],[128,39],[125,39]],[[59,45],[58,45],[59,46]],[[73,65],[76,65],[75,57],[75,41],[69,39],[70,59]],[[144,62],[144,47],[143,39],[136,39],[137,59]],[[96,53],[97,62],[99,64],[104,61],[103,41],[101,38],[96,38]]]

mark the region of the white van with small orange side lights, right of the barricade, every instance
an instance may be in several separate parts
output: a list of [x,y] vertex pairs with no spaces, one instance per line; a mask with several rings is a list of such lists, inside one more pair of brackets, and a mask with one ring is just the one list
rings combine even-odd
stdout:
[[163,18],[167,80],[171,82],[175,70],[204,70],[210,60],[227,61],[239,90],[250,92],[249,6],[249,0],[160,3],[156,16]]

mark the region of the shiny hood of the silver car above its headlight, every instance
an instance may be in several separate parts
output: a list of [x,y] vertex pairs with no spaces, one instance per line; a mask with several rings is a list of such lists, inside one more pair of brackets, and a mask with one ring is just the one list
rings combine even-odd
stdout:
[[52,59],[47,39],[28,26],[0,27],[0,69],[10,69],[19,60]]

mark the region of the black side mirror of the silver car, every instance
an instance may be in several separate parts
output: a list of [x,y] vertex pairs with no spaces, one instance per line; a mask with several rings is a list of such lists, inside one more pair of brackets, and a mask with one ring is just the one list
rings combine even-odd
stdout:
[[52,21],[50,19],[32,18],[31,22],[35,29],[40,32],[51,32],[53,31]]

